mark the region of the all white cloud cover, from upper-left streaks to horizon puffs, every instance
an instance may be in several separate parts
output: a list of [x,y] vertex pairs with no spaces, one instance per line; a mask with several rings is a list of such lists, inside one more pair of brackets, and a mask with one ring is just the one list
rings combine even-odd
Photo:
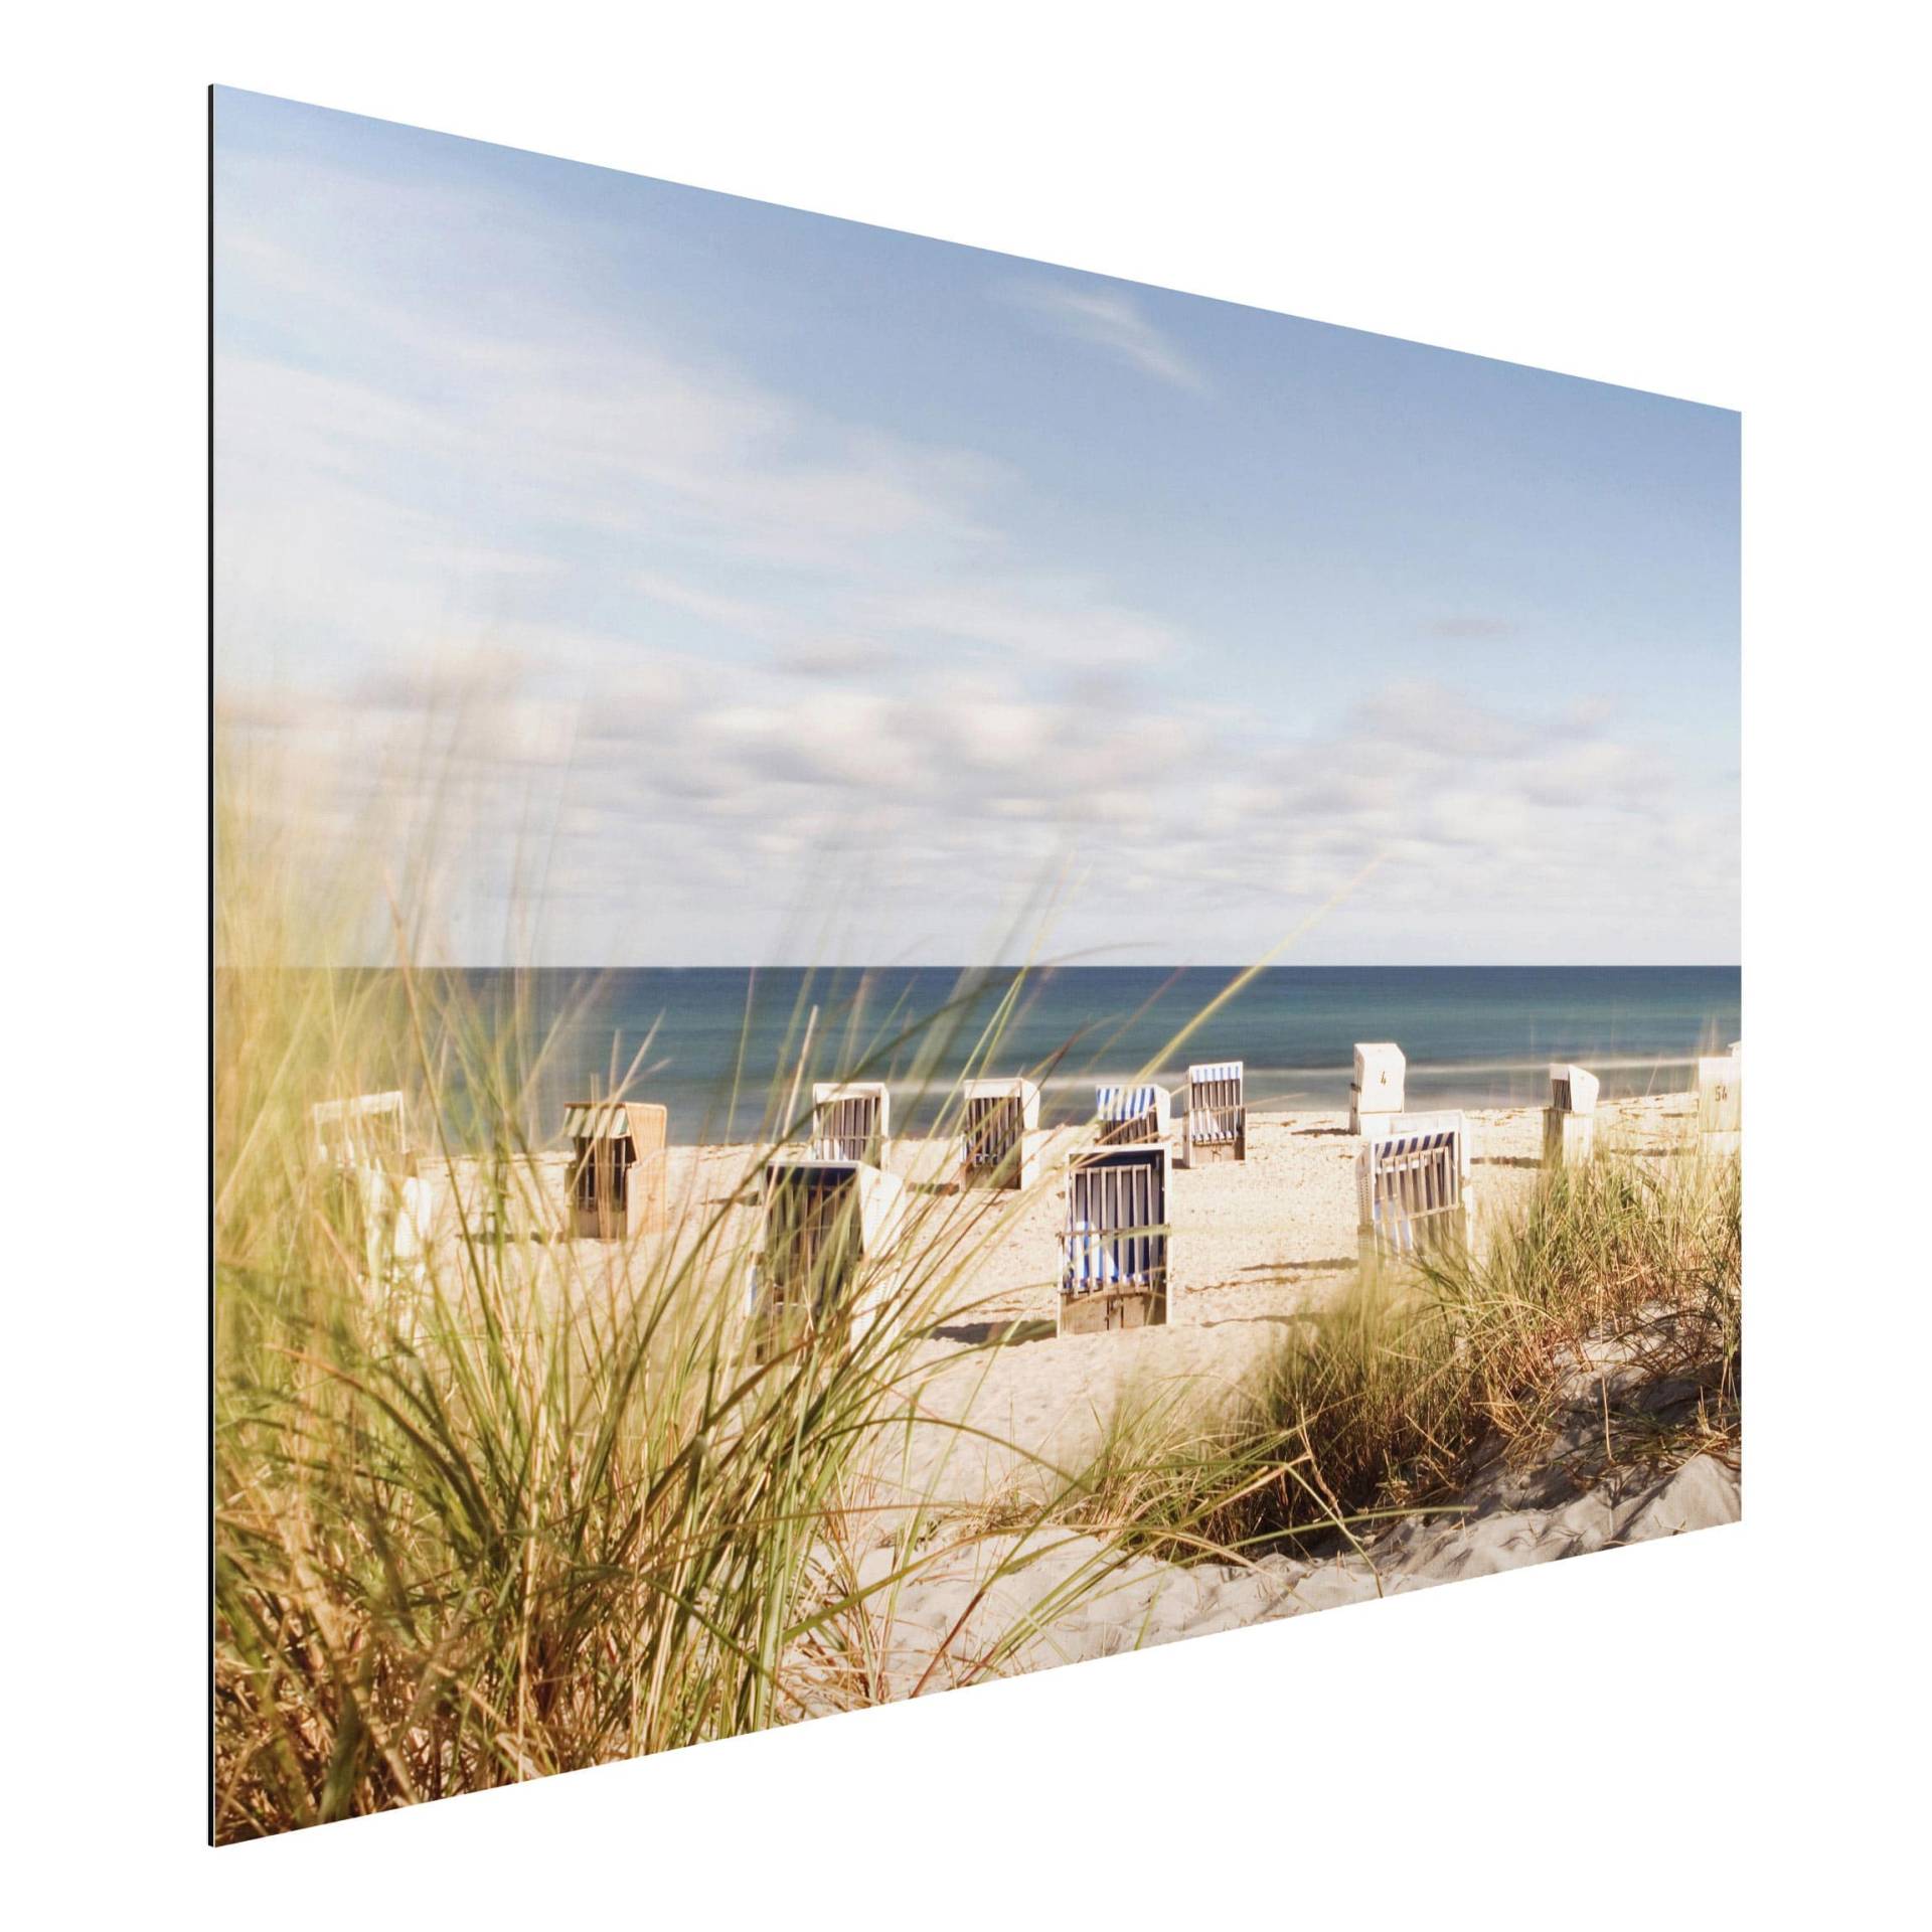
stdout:
[[[1327,956],[1735,945],[1735,813],[1605,707],[1393,684],[1289,746],[1173,674],[1211,667],[1173,622],[1041,558],[1003,466],[572,307],[539,238],[524,299],[454,328],[404,276],[220,245],[224,736],[290,775],[292,864],[433,846],[458,951],[541,877],[553,962],[769,958],[808,902],[858,952],[958,960],[1072,871],[1063,947],[1252,958],[1378,856]],[[1018,299],[1206,392],[1124,294]],[[313,342],[270,352],[251,303]]]

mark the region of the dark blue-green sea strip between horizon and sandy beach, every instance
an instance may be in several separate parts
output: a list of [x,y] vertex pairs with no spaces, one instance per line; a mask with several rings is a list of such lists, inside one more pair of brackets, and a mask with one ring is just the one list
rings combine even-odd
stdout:
[[[1575,1061],[1604,1097],[1683,1092],[1741,1032],[1737,966],[943,966],[462,970],[483,1014],[522,1010],[529,1128],[618,1090],[663,1101],[674,1142],[752,1140],[811,1080],[885,1080],[920,1132],[962,1072],[1041,1082],[1045,1124],[1092,1117],[1101,1080],[1184,1084],[1242,1061],[1248,1105],[1341,1111],[1356,1041],[1395,1041],[1408,1105],[1542,1105]],[[1179,1111],[1179,1109],[1177,1109]]]

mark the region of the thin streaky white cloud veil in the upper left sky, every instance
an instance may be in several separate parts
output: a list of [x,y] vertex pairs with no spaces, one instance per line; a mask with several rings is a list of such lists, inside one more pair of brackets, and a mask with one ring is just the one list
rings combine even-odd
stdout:
[[[280,174],[274,187],[319,193]],[[354,211],[373,193],[336,178],[323,199]],[[460,197],[435,203],[448,230],[485,220]],[[421,211],[365,213],[384,234],[439,232]],[[1090,665],[1177,641],[1090,574],[1026,564],[1001,464],[680,355],[647,319],[576,301],[549,243],[518,243],[516,272],[514,224],[495,245],[524,299],[452,319],[412,309],[404,276],[377,286],[357,251],[319,265],[263,220],[236,209],[220,230],[224,667],[354,668],[587,616],[612,639],[707,626],[800,670],[883,670],[935,639]],[[288,352],[263,346],[292,328]]]

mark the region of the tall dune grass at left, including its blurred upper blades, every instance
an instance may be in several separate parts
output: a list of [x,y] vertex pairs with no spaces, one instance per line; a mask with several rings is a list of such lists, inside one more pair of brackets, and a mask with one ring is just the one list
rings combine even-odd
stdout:
[[[763,1350],[748,1204],[813,1076],[978,1072],[1022,981],[974,1037],[970,983],[920,1016],[802,997],[728,1198],[694,1188],[639,1242],[531,1238],[556,1227],[535,1094],[570,1016],[516,981],[485,1010],[462,976],[412,962],[400,918],[386,972],[292,964],[350,951],[344,914],[367,895],[315,891],[242,806],[218,825],[216,898],[216,1837],[918,1689],[883,1671],[875,1609],[985,1526],[937,1493],[887,1495],[873,1470],[1022,1198],[910,1190],[877,1320]],[[408,1095],[419,1148],[344,1173],[309,1109],[383,1090]],[[396,1265],[373,1221],[419,1198],[435,1236]],[[1051,1548],[1059,1515],[1003,1542],[999,1567]],[[1086,1559],[1053,1605],[1119,1559]]]

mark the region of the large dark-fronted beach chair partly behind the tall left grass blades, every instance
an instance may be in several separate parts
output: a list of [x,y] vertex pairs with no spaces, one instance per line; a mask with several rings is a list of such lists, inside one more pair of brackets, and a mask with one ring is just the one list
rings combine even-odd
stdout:
[[906,1192],[869,1161],[781,1153],[765,1163],[750,1312],[761,1358],[846,1323],[864,1333],[898,1289]]

